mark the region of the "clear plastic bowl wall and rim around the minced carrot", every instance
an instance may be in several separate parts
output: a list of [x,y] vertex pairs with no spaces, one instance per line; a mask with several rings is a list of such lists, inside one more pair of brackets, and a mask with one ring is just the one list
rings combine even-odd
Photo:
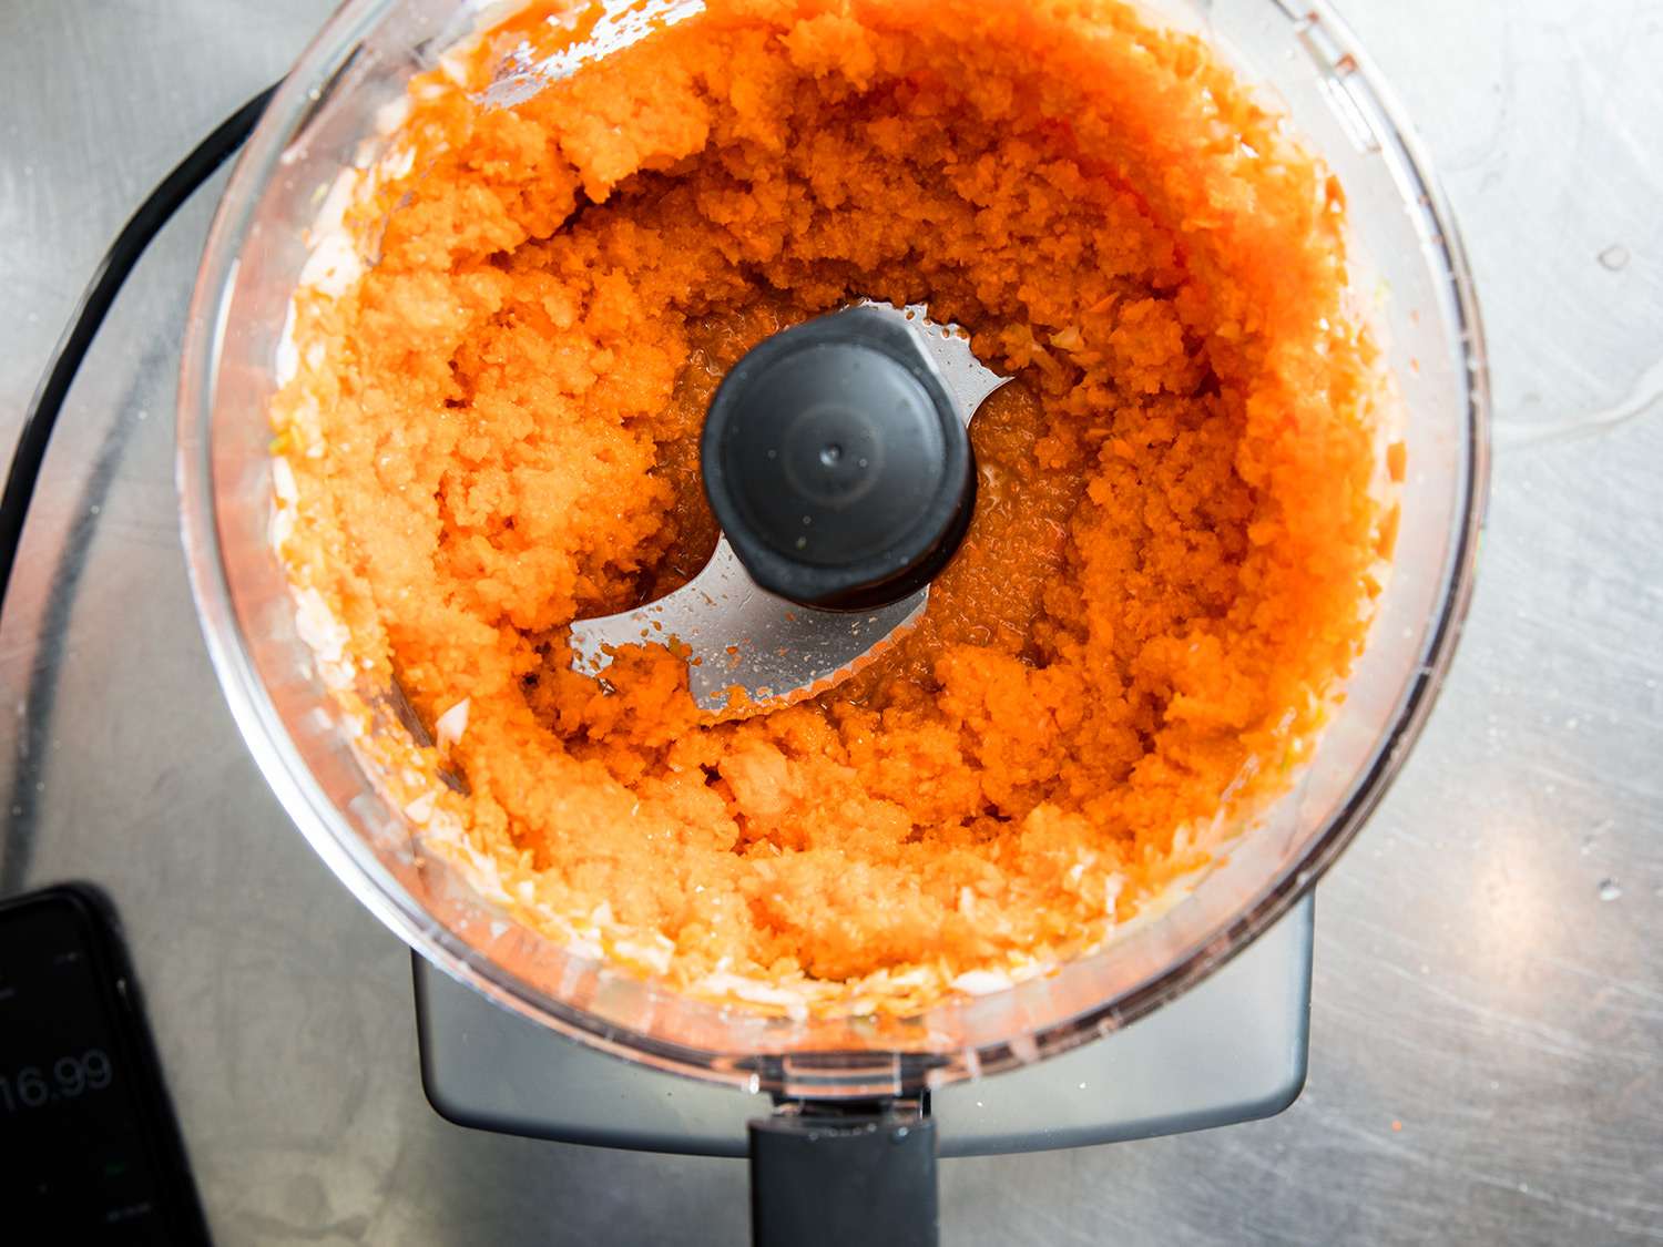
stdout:
[[[695,8],[675,0],[649,13]],[[1066,1051],[1172,999],[1271,926],[1352,840],[1427,718],[1472,585],[1488,392],[1470,276],[1400,110],[1320,0],[1142,8],[1207,38],[1345,190],[1352,284],[1375,299],[1400,406],[1392,437],[1407,447],[1395,567],[1297,781],[1227,828],[1239,835],[1214,866],[1054,973],[881,1023],[703,1003],[512,921],[424,851],[354,752],[273,545],[279,343],[308,229],[343,166],[374,160],[382,110],[491,5],[353,0],[306,50],[236,165],[191,303],[178,399],[185,549],[213,665],[273,791],[422,956],[509,1009],[659,1069],[782,1097],[913,1096]]]

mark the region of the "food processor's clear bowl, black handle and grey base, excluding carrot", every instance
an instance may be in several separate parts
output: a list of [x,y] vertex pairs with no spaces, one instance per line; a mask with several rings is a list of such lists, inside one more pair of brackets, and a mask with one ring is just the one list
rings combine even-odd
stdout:
[[[607,5],[597,28],[632,40],[697,8]],[[1427,163],[1324,5],[1141,8],[1156,25],[1201,33],[1345,190],[1352,286],[1377,296],[1372,318],[1400,406],[1394,436],[1407,449],[1394,572],[1344,702],[1292,788],[1239,828],[1227,855],[1054,973],[881,1028],[692,999],[521,926],[427,851],[368,773],[274,552],[268,412],[289,299],[329,188],[343,168],[376,158],[384,110],[492,20],[492,7],[353,0],[279,86],[225,193],[191,304],[178,411],[185,547],[208,650],[266,780],[336,876],[421,954],[424,1079],[449,1116],[582,1142],[748,1154],[760,1242],[851,1232],[926,1242],[938,1154],[1192,1129],[1297,1094],[1309,891],[1419,733],[1470,592],[1485,481],[1483,344]],[[905,624],[898,605],[885,609],[898,614],[886,622]],[[890,630],[875,625],[830,670]],[[770,678],[752,687],[773,692]],[[1231,993],[1219,991],[1222,978],[1204,984],[1237,954]],[[1236,1069],[1209,1084],[1206,1071],[1231,1067],[1232,1056]],[[1161,1061],[1172,1064],[1156,1069]],[[1019,1091],[1001,1104],[1003,1087]]]

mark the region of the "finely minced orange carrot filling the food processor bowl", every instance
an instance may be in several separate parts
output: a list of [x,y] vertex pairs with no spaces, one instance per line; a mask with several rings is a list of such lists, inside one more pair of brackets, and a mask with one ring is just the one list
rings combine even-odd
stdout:
[[[1101,938],[1287,783],[1254,760],[1364,638],[1375,349],[1337,188],[1114,0],[708,0],[482,101],[562,13],[412,85],[414,158],[353,218],[374,266],[298,296],[326,349],[276,402],[323,447],[291,459],[293,577],[429,725],[469,700],[441,800],[471,843],[667,939],[674,983],[946,981]],[[572,619],[708,555],[723,371],[856,298],[928,303],[1018,379],[923,625],[717,725],[664,647],[610,690],[570,672]]]

